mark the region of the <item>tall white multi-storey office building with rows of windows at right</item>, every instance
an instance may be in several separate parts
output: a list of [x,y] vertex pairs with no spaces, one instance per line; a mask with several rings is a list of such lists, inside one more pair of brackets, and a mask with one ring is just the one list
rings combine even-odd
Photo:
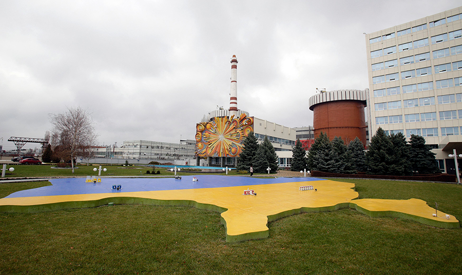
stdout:
[[378,127],[408,141],[422,135],[441,171],[455,173],[448,154],[462,153],[462,7],[365,37],[369,136]]

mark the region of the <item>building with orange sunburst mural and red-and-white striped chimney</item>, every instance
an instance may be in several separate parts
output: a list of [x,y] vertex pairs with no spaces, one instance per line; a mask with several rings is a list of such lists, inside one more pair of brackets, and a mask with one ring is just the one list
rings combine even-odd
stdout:
[[258,119],[238,109],[237,64],[237,57],[233,55],[229,109],[211,111],[196,125],[197,165],[234,167],[246,136],[254,132],[259,143],[267,137],[273,144],[279,167],[290,166],[292,147],[296,143],[295,129]]

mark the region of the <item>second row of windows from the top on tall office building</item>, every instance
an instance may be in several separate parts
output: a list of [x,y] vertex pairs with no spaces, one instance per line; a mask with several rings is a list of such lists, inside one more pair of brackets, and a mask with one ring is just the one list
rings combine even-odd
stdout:
[[[441,42],[455,40],[455,39],[460,38],[460,37],[462,37],[462,30],[456,30],[456,31],[452,31],[452,32],[432,36],[431,41],[432,41],[432,45],[433,45],[433,44],[438,44],[438,43],[441,43]],[[411,41],[411,42],[407,42],[407,43],[403,43],[403,44],[398,45],[398,52],[407,51],[407,50],[411,50],[411,49],[417,49],[417,48],[425,47],[425,46],[428,46],[428,45],[429,45],[428,44],[428,38],[424,38],[424,39],[421,39],[421,40],[416,40],[414,42]],[[393,54],[393,53],[396,53],[396,46],[371,51],[371,58],[376,58],[376,57],[389,55],[389,54]]]

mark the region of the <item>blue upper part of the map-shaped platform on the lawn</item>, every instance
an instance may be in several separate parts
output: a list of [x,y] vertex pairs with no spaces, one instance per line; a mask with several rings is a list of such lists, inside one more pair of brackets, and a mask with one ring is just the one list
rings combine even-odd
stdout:
[[[192,181],[196,178],[198,181]],[[188,175],[181,176],[181,180],[174,178],[140,179],[140,178],[101,178],[100,183],[86,183],[85,178],[53,179],[51,186],[22,190],[8,195],[6,198],[41,197],[52,195],[77,195],[111,192],[141,192],[161,190],[182,190],[199,188],[220,188],[232,186],[249,186],[261,184],[278,184],[287,182],[322,181],[317,178],[270,178],[259,179],[249,176],[223,175]],[[112,189],[121,185],[122,189]],[[303,184],[306,185],[306,184]]]

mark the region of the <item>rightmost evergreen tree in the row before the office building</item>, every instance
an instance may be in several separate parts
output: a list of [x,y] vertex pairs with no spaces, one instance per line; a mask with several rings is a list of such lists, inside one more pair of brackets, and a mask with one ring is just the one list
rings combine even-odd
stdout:
[[424,137],[420,135],[411,135],[410,143],[410,160],[412,169],[420,174],[440,173],[436,165],[435,153],[428,145],[425,144]]

